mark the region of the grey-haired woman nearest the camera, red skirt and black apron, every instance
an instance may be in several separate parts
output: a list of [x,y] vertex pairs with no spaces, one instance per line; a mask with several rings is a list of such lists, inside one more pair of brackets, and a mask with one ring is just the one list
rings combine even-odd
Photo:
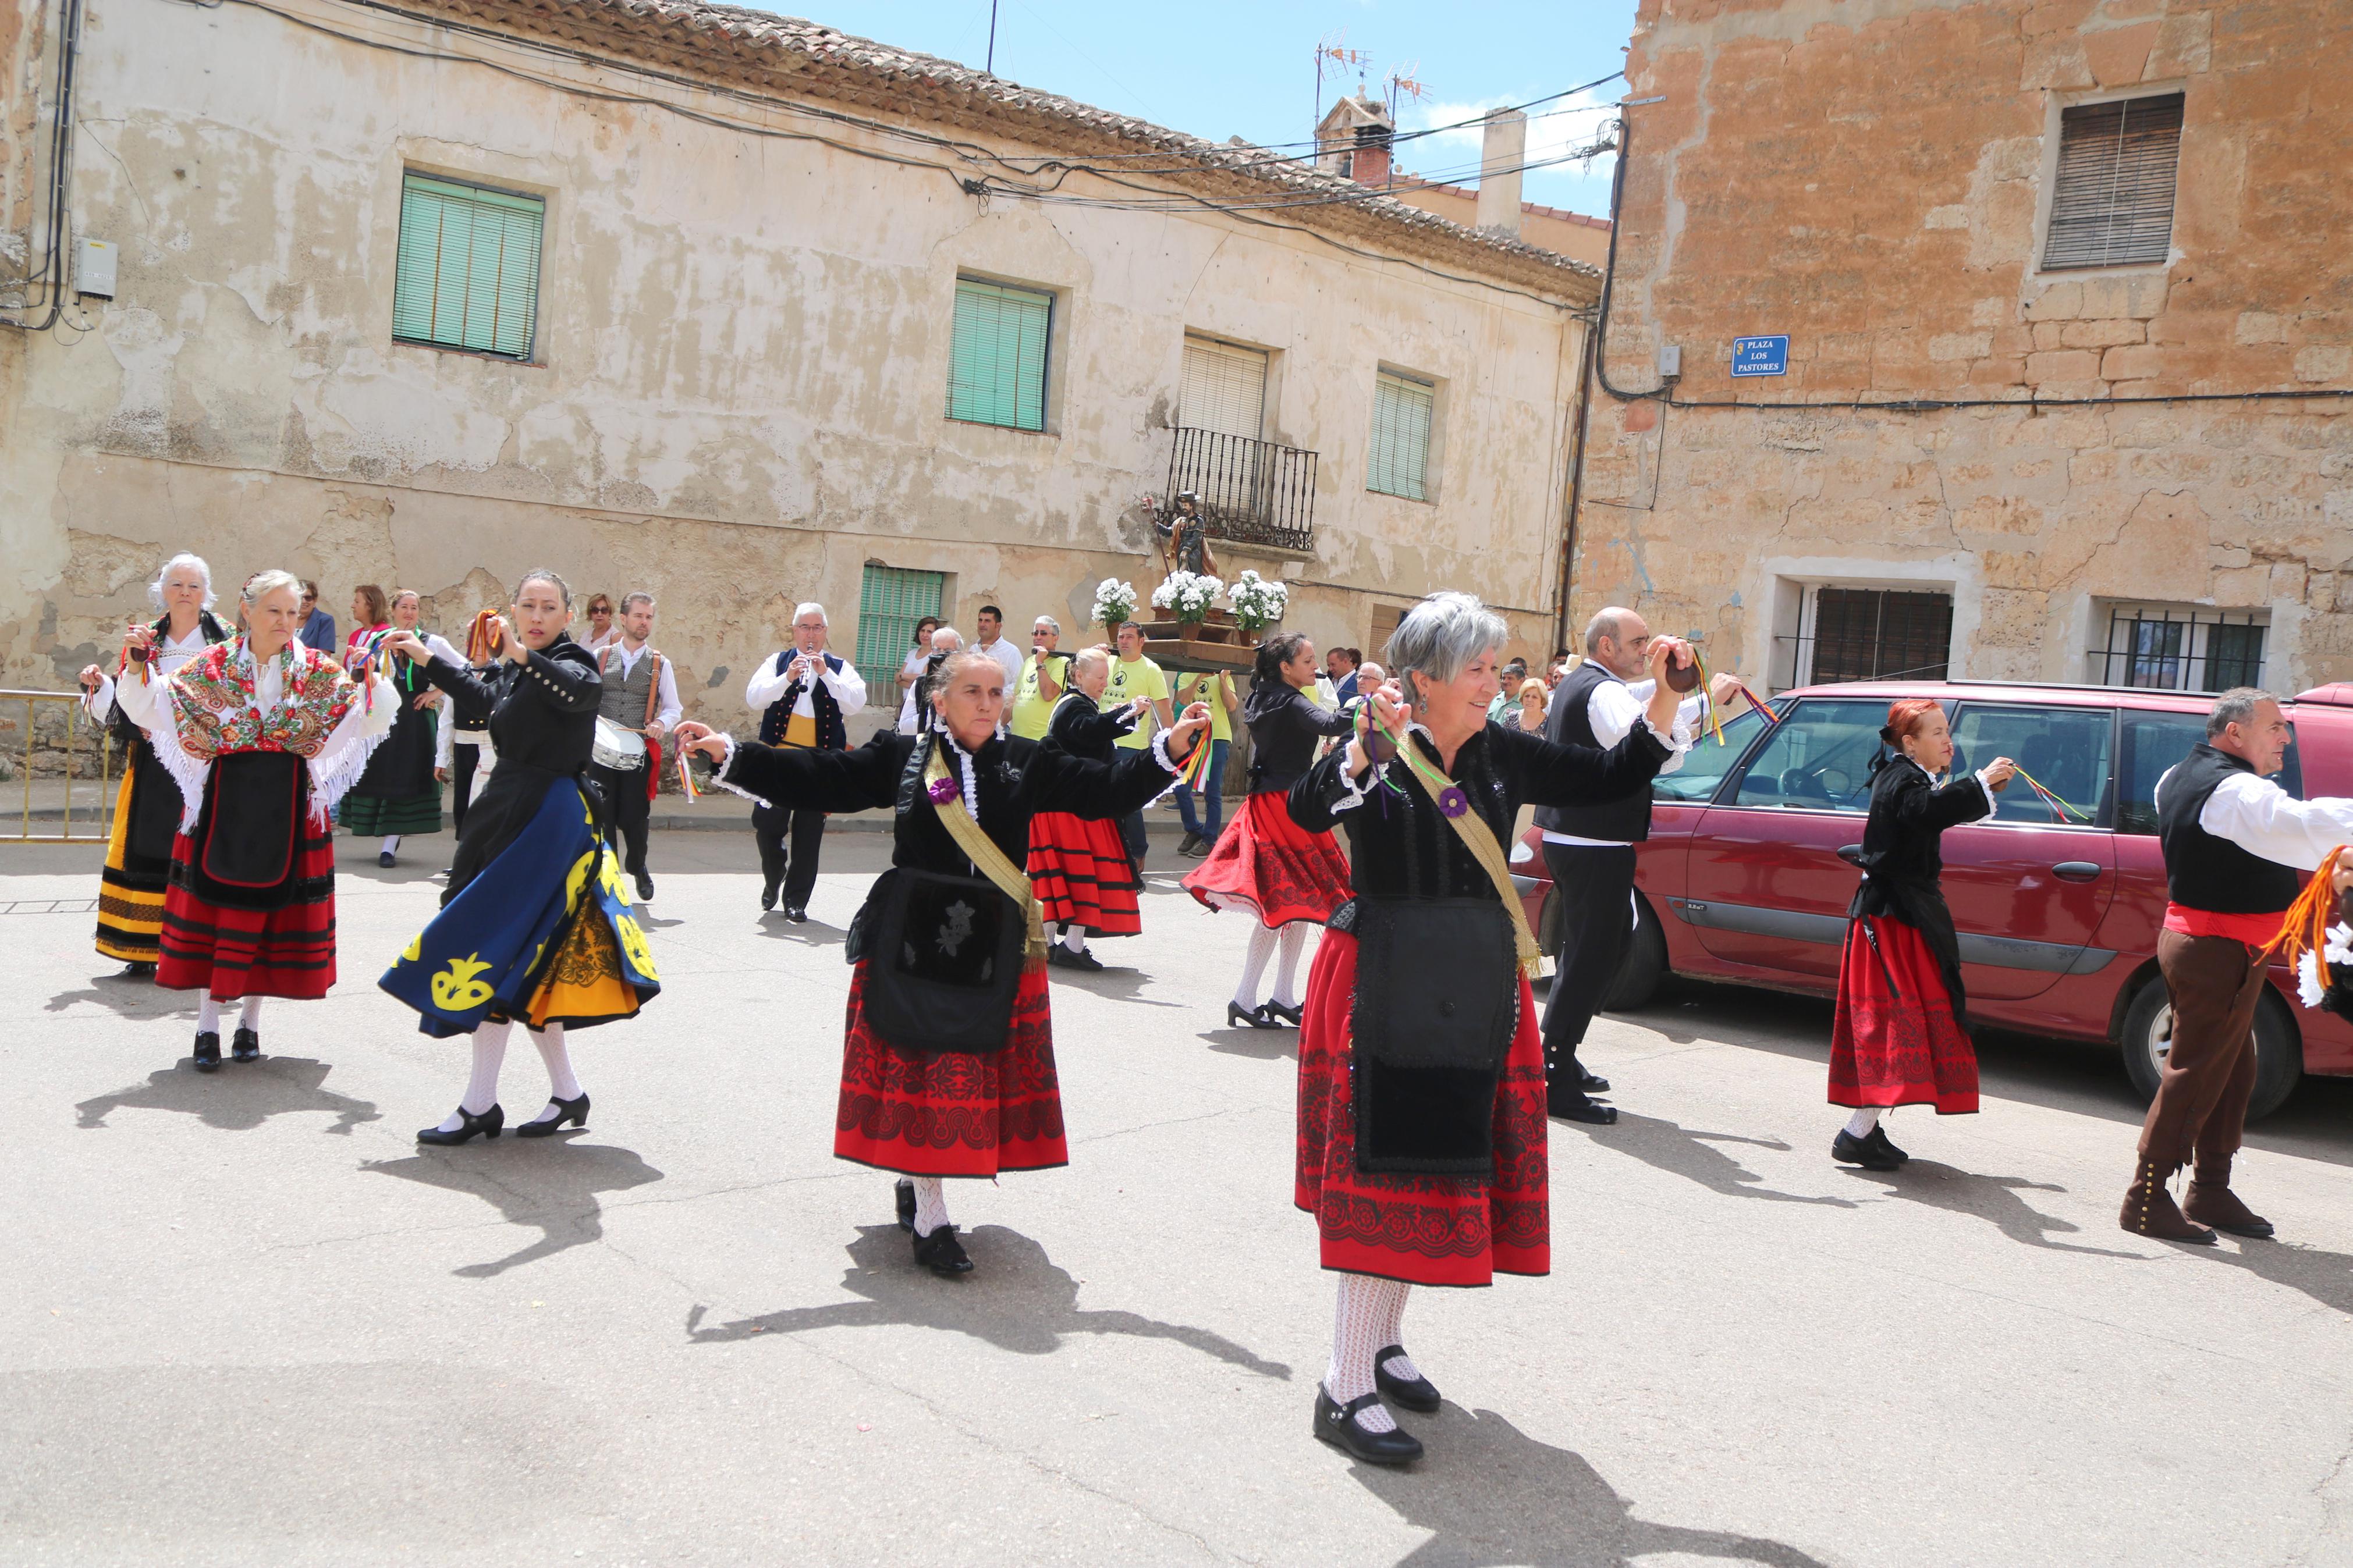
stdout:
[[[1537,940],[1504,860],[1511,823],[1522,804],[1647,790],[1675,755],[1664,679],[1609,750],[1489,724],[1501,642],[1471,595],[1417,604],[1388,639],[1395,682],[1289,792],[1299,827],[1348,830],[1355,875],[1308,971],[1297,1204],[1339,1272],[1315,1436],[1374,1465],[1421,1455],[1384,1396],[1438,1408],[1405,1354],[1407,1291],[1551,1272]],[[1652,642],[1654,677],[1689,658]]]

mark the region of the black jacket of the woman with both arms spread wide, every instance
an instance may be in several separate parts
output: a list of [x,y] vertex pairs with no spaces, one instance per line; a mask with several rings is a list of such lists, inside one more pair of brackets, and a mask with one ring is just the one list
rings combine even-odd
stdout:
[[[915,741],[918,736],[882,731],[849,752],[736,741],[725,773],[713,778],[788,811],[896,806],[899,780],[906,776]],[[504,755],[499,764],[506,764]],[[492,776],[496,778],[496,773]],[[948,776],[962,785],[962,766],[953,748],[948,750]],[[1169,785],[1169,771],[1151,750],[1120,752],[1118,762],[1092,762],[1019,736],[991,738],[981,745],[972,755],[972,778],[979,788],[981,832],[995,839],[1014,865],[1028,863],[1028,823],[1035,813],[1127,816],[1148,806]],[[918,790],[913,809],[901,811],[892,827],[892,865],[913,865],[946,877],[979,877],[981,872],[939,820],[941,811],[962,809],[953,799],[946,806],[934,806]]]

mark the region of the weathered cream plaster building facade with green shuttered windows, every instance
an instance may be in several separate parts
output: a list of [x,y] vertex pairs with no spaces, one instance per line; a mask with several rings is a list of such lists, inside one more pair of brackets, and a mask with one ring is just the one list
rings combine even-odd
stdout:
[[[0,35],[9,273],[47,244],[56,14]],[[692,0],[101,0],[80,42],[71,240],[118,275],[0,331],[0,684],[106,656],[181,548],[339,618],[416,588],[442,630],[534,564],[645,588],[715,722],[800,599],[842,651],[925,595],[1075,637],[1099,578],[1158,578],[1202,376],[1217,482],[1280,512],[1228,576],[1292,578],[1292,625],[1365,644],[1457,585],[1551,642],[1588,263]],[[475,282],[426,237],[452,212]]]

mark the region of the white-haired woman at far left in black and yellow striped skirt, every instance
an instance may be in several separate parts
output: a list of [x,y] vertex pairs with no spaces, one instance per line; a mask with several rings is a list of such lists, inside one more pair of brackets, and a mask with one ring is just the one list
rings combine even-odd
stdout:
[[[148,602],[162,621],[134,637],[122,661],[122,679],[146,684],[169,679],[184,663],[233,635],[212,614],[212,567],[202,555],[174,555],[148,583]],[[122,748],[122,788],[115,792],[115,827],[106,837],[99,870],[99,952],[122,959],[125,980],[155,978],[155,933],[172,882],[172,839],[186,802],[172,769],[155,759],[146,731],[115,703],[115,677],[82,670],[82,703],[96,724],[113,729]]]

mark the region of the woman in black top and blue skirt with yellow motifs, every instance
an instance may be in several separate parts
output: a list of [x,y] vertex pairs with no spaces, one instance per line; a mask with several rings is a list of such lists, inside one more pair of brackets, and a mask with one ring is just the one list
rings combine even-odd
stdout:
[[527,571],[513,609],[482,623],[489,668],[440,658],[414,632],[386,644],[421,665],[461,722],[482,724],[499,750],[466,811],[440,914],[379,980],[416,1009],[426,1034],[473,1037],[466,1098],[419,1143],[499,1135],[499,1063],[518,1018],[548,1067],[548,1105],[515,1131],[544,1138],[586,1126],[588,1093],[565,1030],[635,1018],[661,990],[586,780],[605,682],[595,656],[565,635],[569,621],[565,581]]

